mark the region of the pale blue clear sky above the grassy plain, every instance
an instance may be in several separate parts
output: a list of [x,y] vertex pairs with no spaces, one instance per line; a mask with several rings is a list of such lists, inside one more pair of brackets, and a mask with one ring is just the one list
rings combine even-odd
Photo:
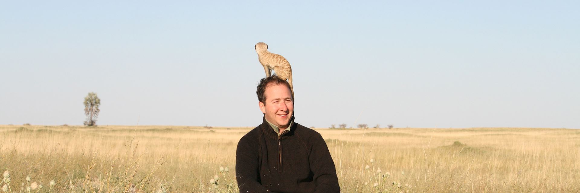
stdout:
[[8,1],[0,125],[257,126],[265,42],[296,122],[580,128],[579,1]]

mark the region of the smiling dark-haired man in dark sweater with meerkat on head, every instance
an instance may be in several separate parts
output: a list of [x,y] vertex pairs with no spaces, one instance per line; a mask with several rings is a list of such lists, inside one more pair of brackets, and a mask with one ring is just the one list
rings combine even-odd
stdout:
[[288,82],[263,78],[256,94],[264,118],[238,143],[235,176],[240,192],[340,192],[320,133],[293,122]]

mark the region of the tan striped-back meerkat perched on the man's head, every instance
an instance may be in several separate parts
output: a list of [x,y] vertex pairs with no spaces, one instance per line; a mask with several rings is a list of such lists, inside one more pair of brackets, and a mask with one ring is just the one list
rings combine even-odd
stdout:
[[292,86],[292,67],[288,60],[286,60],[284,56],[280,56],[280,54],[268,52],[268,45],[263,42],[256,43],[254,49],[256,49],[256,52],[258,53],[258,60],[264,67],[266,77],[270,77],[271,70],[276,71],[278,77],[288,81],[290,90],[292,91],[292,96],[294,96],[294,88]]

